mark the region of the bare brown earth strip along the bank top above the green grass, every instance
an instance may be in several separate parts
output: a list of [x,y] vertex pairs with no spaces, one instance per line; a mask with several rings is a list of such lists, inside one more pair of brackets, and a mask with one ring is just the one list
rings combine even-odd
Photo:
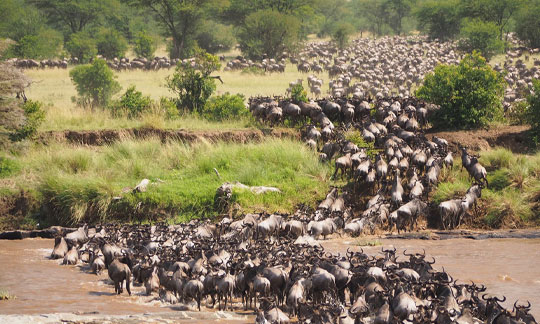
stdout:
[[39,141],[49,143],[51,141],[68,142],[83,145],[105,145],[128,138],[144,139],[159,137],[162,141],[176,140],[185,142],[197,141],[225,141],[234,143],[258,142],[265,137],[275,138],[300,138],[295,129],[243,129],[243,130],[216,130],[216,131],[191,131],[156,128],[130,128],[108,129],[91,131],[49,131],[39,135]]

